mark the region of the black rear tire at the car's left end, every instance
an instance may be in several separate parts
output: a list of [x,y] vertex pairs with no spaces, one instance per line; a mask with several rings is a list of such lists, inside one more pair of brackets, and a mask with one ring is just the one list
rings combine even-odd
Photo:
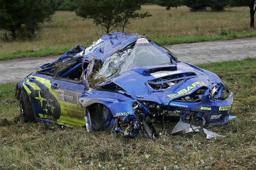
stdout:
[[22,106],[22,116],[24,117],[25,122],[35,122],[35,115],[29,100],[27,92],[22,89],[20,94],[21,106]]

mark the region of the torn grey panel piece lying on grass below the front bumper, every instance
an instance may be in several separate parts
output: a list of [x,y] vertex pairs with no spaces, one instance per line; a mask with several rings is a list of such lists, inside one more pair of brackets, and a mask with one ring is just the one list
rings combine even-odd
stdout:
[[206,139],[214,140],[217,137],[226,137],[223,135],[218,135],[212,131],[202,128],[201,126],[191,125],[184,121],[179,121],[175,127],[172,129],[172,135],[184,135],[185,133],[190,132],[204,132],[206,134]]

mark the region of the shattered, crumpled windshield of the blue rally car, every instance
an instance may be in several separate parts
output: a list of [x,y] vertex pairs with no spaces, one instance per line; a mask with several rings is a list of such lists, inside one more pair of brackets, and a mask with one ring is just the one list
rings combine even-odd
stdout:
[[131,68],[171,64],[169,55],[151,43],[136,43],[134,48],[110,56],[99,71],[99,76],[114,76]]

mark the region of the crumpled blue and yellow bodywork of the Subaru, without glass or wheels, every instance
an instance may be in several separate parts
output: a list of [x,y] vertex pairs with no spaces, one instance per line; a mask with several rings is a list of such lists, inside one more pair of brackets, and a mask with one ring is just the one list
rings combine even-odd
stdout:
[[[144,109],[144,114],[147,114],[150,111],[144,103],[153,102],[164,110],[169,107],[173,110],[181,110],[182,120],[186,120],[188,113],[195,113],[196,119],[204,120],[206,125],[224,125],[228,122],[233,104],[232,92],[225,100],[211,99],[210,93],[215,86],[220,87],[219,95],[226,86],[216,74],[188,63],[178,62],[168,65],[132,68],[110,77],[104,83],[98,85],[99,87],[106,87],[115,84],[127,94],[91,89],[86,83],[72,82],[47,75],[47,73],[54,72],[56,63],[67,61],[71,55],[74,59],[77,59],[77,64],[61,74],[62,77],[68,78],[69,75],[82,66],[83,62],[89,64],[92,59],[96,59],[104,63],[113,53],[135,43],[140,37],[142,37],[140,34],[110,33],[90,47],[77,46],[70,49],[58,60],[40,66],[40,70],[45,70],[44,74],[34,72],[19,82],[17,87],[26,90],[28,93],[37,121],[90,127],[90,117],[84,115],[84,111],[92,104],[103,104],[110,110],[114,118],[118,118],[136,117],[133,108],[133,104],[136,102]],[[150,43],[169,55],[170,59],[175,60],[173,55],[154,42],[151,41]],[[85,68],[84,72],[87,69]],[[148,71],[154,69],[158,71]],[[158,86],[170,82],[169,80],[158,82],[158,79],[173,75],[179,75],[173,80],[182,81],[166,89],[155,90],[152,88],[154,85]],[[200,89],[207,89],[202,94],[200,101],[184,102],[179,100]],[[84,116],[86,119],[84,119]],[[116,125],[115,121],[110,123]]]

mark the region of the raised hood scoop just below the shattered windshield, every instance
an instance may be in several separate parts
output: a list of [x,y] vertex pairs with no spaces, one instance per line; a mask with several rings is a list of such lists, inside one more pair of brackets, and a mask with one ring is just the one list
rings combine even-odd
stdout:
[[138,67],[132,68],[131,70],[141,73],[141,74],[150,74],[159,71],[175,71],[177,70],[177,65],[161,65],[161,66],[147,66],[147,67]]

